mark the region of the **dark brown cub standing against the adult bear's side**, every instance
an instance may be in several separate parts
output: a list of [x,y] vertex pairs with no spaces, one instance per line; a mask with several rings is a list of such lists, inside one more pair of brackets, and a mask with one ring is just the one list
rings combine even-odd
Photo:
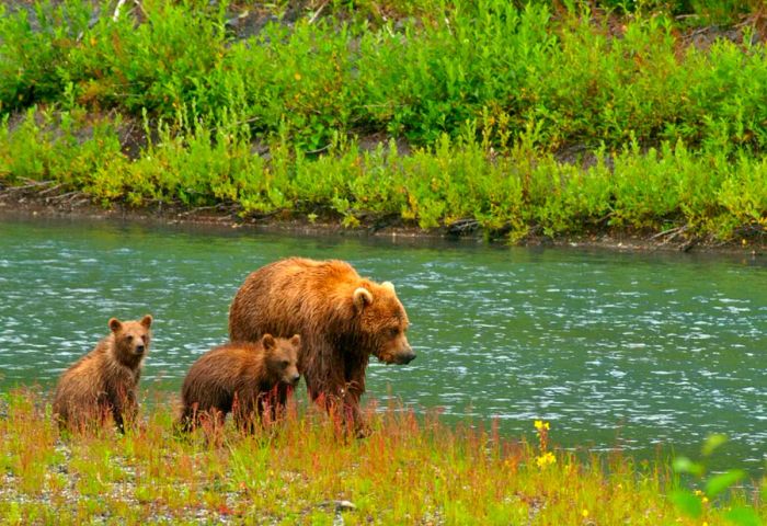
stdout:
[[181,388],[180,428],[194,428],[201,416],[222,425],[229,412],[241,431],[251,433],[256,422],[277,420],[300,378],[300,346],[298,334],[289,340],[264,334],[255,343],[227,343],[205,353]]

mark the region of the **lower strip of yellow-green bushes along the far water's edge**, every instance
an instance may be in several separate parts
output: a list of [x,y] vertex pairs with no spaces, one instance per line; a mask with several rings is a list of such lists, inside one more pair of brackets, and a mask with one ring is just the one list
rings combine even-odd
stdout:
[[677,227],[729,239],[767,226],[765,158],[690,151],[682,141],[648,151],[633,141],[613,156],[603,149],[585,168],[537,149],[531,128],[504,156],[472,126],[408,155],[393,141],[365,150],[339,135],[320,157],[281,140],[260,156],[248,126],[182,118],[161,123],[130,159],[118,127],[81,112],[30,111],[13,129],[0,127],[0,178],[55,181],[104,205],[226,203],[243,215],[330,214],[350,226],[388,216],[421,228],[472,219],[512,239]]

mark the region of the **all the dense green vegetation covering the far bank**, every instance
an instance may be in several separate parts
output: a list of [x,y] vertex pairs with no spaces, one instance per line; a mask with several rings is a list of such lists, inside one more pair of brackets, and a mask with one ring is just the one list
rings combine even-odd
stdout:
[[0,7],[0,183],[513,240],[767,227],[760,1],[116,5]]

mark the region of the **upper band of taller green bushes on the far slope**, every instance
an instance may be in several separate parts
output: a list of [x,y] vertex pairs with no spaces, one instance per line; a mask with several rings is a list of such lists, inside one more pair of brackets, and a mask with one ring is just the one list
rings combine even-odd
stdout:
[[549,151],[631,137],[767,145],[767,58],[751,26],[698,49],[665,15],[585,4],[424,0],[381,24],[335,5],[238,38],[230,22],[245,7],[226,2],[145,0],[113,20],[110,2],[38,0],[0,18],[0,111],[77,103],[168,121],[183,107],[309,151],[335,133],[432,145],[482,115],[505,118],[512,138],[535,123]]

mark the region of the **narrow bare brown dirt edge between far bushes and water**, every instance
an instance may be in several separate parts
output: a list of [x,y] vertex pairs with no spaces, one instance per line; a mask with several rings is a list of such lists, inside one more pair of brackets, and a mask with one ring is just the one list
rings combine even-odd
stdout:
[[[449,240],[460,243],[507,243],[506,238],[489,237],[476,224],[458,224],[456,228],[422,229],[405,225],[399,218],[362,221],[355,227],[343,226],[337,218],[309,219],[306,215],[274,214],[263,217],[241,217],[236,206],[218,205],[188,208],[156,204],[129,207],[112,204],[99,206],[81,192],[53,188],[54,182],[34,182],[28,187],[0,185],[0,220],[5,217],[48,219],[121,220],[159,225],[191,225],[216,229],[244,229],[254,232],[299,236],[351,236],[397,239],[400,242],[423,244],[428,240]],[[53,191],[51,191],[53,188]],[[760,258],[767,252],[767,237],[751,236],[747,240],[722,241],[714,237],[690,236],[684,228],[665,232],[595,231],[569,237],[528,235],[516,244],[526,247],[580,248],[625,252],[711,252],[743,254]]]

